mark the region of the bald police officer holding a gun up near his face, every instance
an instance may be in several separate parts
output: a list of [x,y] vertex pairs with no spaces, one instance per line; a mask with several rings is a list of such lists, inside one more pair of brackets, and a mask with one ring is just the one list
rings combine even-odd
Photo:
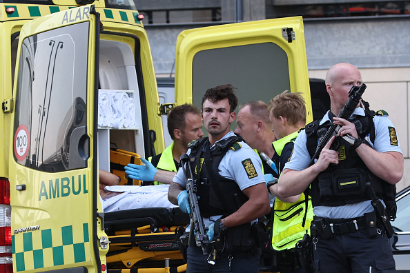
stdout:
[[[297,136],[277,190],[282,196],[292,196],[310,185],[315,214],[313,259],[318,272],[396,272],[386,230],[365,185],[370,181],[379,199],[386,204],[394,202],[394,184],[403,174],[396,130],[387,115],[373,117],[367,103],[364,109],[359,103],[349,120],[336,117],[348,101],[351,87],[362,85],[355,66],[333,65],[325,83],[331,110]],[[333,136],[309,166],[321,135],[318,132],[329,128],[331,122],[340,125],[338,136],[349,134],[355,141],[351,145],[338,137],[339,145],[333,150]]]

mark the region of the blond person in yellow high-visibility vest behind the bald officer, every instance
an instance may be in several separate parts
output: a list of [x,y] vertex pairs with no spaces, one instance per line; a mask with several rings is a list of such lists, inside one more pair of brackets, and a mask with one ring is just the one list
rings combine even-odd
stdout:
[[[273,161],[281,173],[284,164],[291,158],[296,136],[306,123],[304,99],[299,92],[285,91],[269,101],[268,111],[272,130],[277,138],[277,141],[273,142]],[[268,191],[276,196],[273,205],[272,247],[281,252],[277,255],[278,270],[281,273],[306,272],[300,266],[295,245],[303,238],[306,230],[309,230],[313,219],[311,201],[308,202],[306,221],[302,226],[306,212],[304,194],[282,199],[277,195],[277,180],[267,183],[267,187]]]

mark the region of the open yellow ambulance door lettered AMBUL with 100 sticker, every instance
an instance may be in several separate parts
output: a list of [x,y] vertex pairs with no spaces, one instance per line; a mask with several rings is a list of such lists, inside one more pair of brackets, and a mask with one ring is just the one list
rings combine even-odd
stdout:
[[26,23],[19,35],[10,153],[14,272],[104,272],[97,199],[99,14]]

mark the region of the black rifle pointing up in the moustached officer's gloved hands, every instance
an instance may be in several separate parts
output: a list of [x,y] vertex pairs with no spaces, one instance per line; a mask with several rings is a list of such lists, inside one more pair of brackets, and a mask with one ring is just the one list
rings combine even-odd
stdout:
[[202,252],[204,256],[208,256],[208,263],[211,265],[215,264],[215,251],[208,254],[206,246],[209,245],[210,240],[208,235],[206,235],[206,229],[204,220],[202,219],[201,213],[199,212],[198,197],[197,197],[197,181],[193,179],[193,173],[190,163],[190,158],[188,154],[182,154],[181,156],[182,172],[184,172],[186,181],[186,192],[188,192],[188,201],[191,208],[191,220],[193,228],[193,233],[195,235],[195,244],[197,247],[202,247]]

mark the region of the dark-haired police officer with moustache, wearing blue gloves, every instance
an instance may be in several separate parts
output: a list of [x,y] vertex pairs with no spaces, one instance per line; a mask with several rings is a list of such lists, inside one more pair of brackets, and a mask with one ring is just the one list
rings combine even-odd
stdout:
[[[199,210],[217,247],[215,265],[207,263],[202,249],[187,249],[187,272],[259,272],[260,236],[255,222],[270,210],[257,154],[230,130],[237,97],[231,85],[208,89],[201,117],[208,137],[191,143],[190,154],[197,180]],[[168,199],[190,212],[182,169],[170,184]],[[251,225],[253,223],[253,225]],[[191,238],[192,236],[190,236]]]

